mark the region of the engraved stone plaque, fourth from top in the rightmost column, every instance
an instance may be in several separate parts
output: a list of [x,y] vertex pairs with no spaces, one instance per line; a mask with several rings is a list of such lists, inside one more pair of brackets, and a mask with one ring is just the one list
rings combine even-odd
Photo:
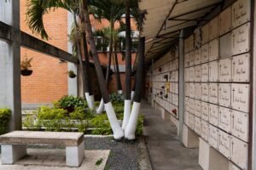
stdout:
[[231,107],[232,109],[248,112],[249,111],[249,85],[231,85]]

